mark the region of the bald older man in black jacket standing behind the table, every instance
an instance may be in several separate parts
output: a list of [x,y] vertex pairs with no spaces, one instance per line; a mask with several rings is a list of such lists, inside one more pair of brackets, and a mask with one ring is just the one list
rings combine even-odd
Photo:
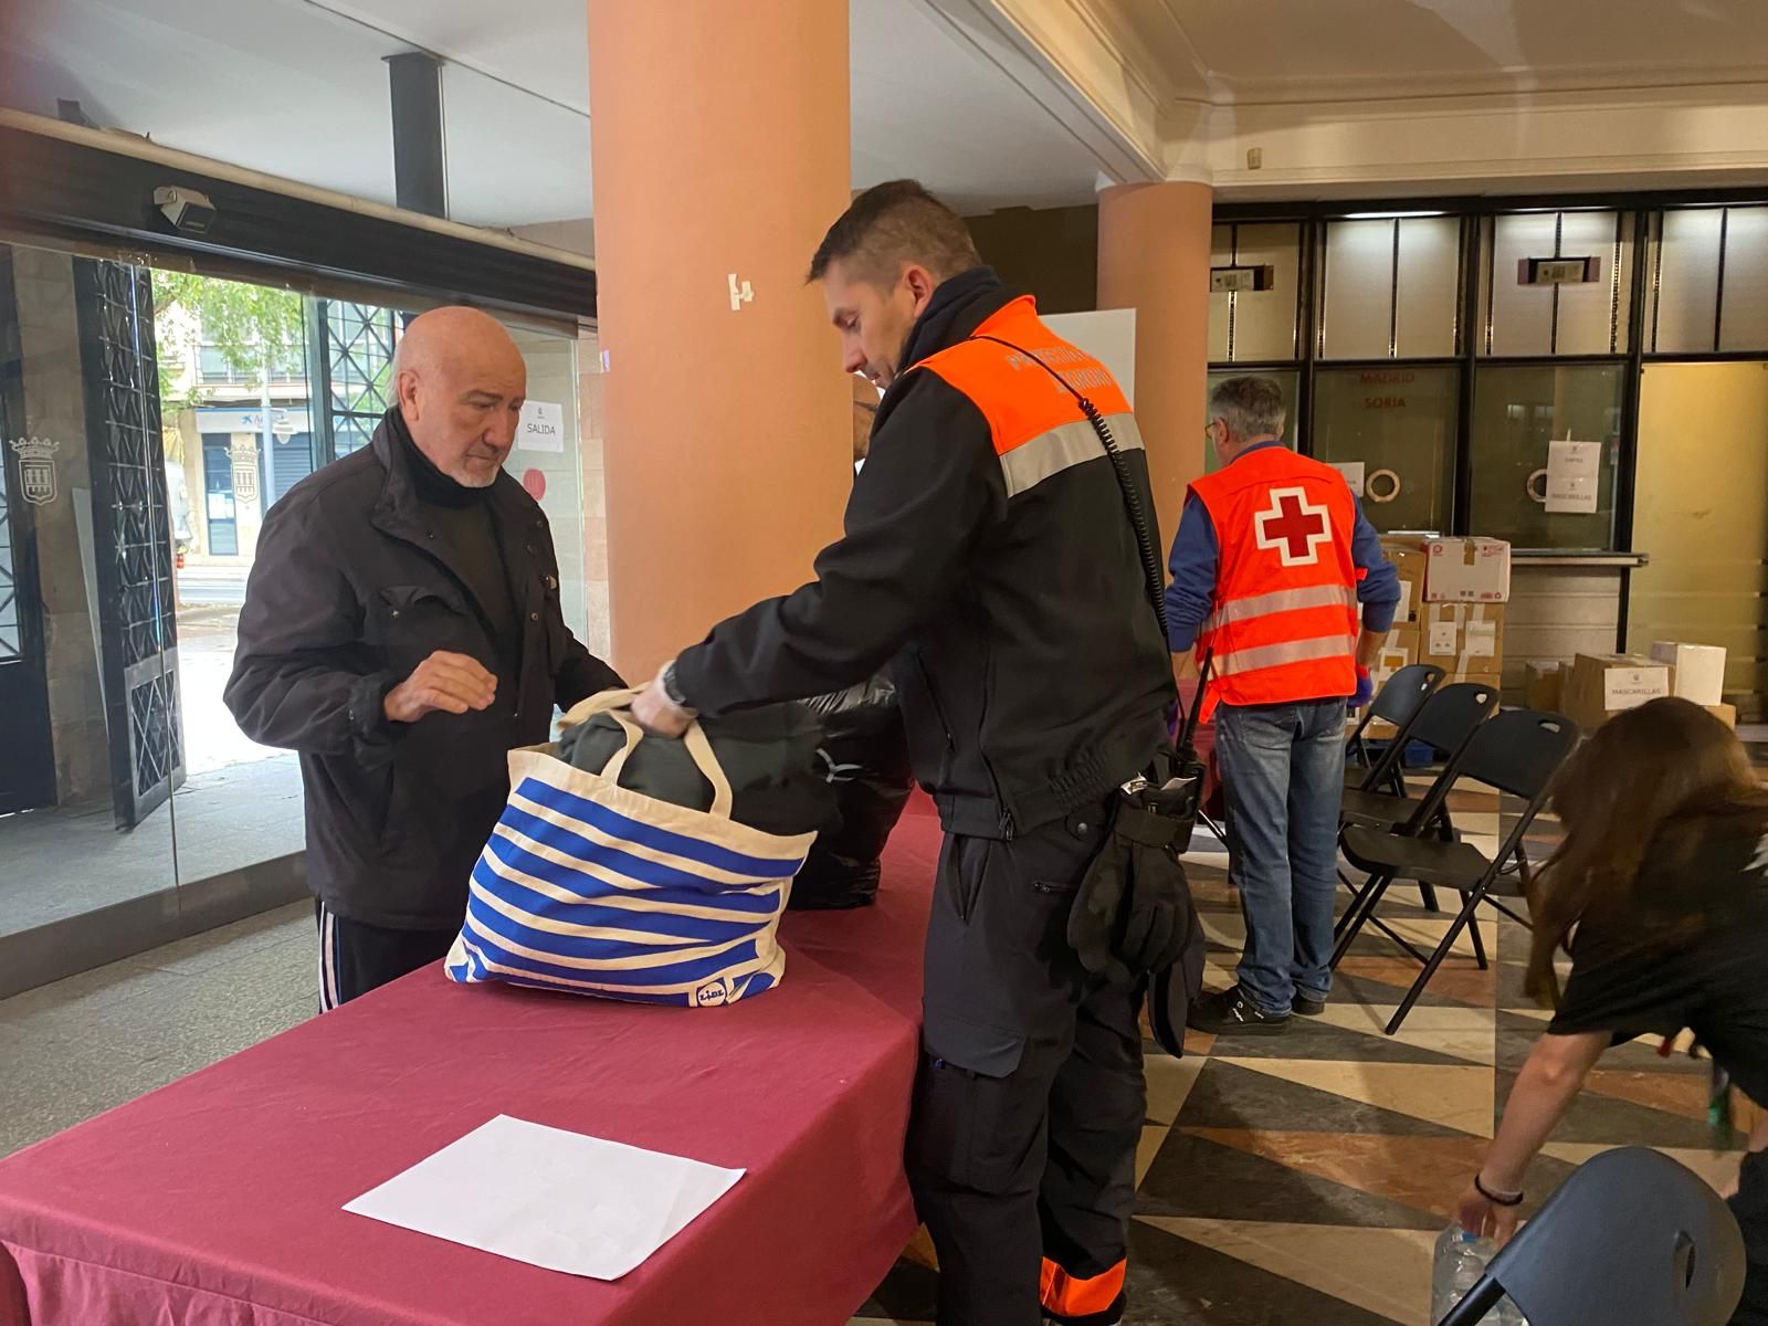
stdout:
[[320,1004],[442,958],[553,705],[619,686],[571,635],[539,506],[504,474],[527,366],[467,308],[407,327],[375,440],[272,507],[226,704],[301,751]]

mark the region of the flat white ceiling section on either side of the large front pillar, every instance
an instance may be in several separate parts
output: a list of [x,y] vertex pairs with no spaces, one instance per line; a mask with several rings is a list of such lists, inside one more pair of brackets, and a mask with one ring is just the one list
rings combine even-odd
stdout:
[[[636,2],[636,0],[635,0]],[[392,202],[384,57],[447,60],[449,210],[592,212],[582,0],[23,0],[4,95]],[[965,210],[1087,202],[1096,157],[921,0],[850,0],[854,186],[918,175]],[[659,81],[659,92],[667,83]],[[962,133],[956,131],[962,126]]]

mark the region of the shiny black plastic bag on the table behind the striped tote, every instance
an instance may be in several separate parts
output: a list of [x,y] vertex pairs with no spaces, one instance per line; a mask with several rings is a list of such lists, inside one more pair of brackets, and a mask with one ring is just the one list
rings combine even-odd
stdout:
[[822,718],[836,808],[792,884],[790,907],[868,907],[879,891],[879,859],[912,789],[896,688],[875,677],[806,705]]

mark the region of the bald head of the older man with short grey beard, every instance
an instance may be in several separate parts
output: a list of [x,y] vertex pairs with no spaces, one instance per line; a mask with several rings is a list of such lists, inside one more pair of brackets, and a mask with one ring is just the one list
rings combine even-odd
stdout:
[[392,355],[392,389],[417,449],[465,488],[490,488],[516,440],[529,370],[504,325],[479,309],[415,318]]

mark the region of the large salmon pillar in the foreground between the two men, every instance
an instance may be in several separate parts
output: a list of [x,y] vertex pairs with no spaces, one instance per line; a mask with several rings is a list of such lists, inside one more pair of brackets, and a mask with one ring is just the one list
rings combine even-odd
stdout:
[[849,200],[847,5],[589,0],[589,85],[612,661],[636,684],[840,532],[852,396],[804,271]]

